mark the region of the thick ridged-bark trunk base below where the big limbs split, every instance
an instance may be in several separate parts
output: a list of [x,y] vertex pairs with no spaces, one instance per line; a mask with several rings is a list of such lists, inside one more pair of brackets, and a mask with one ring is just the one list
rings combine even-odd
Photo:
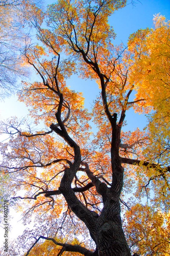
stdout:
[[107,198],[95,233],[99,256],[131,256],[122,229],[119,198]]

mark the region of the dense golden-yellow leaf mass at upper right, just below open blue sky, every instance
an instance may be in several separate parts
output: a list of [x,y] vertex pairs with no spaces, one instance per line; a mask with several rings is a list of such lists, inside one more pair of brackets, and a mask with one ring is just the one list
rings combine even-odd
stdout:
[[[170,21],[156,15],[154,25],[153,29],[139,30],[130,37],[128,49],[133,51],[130,80],[135,83],[136,100],[145,99],[144,107],[167,112],[170,98]],[[136,110],[141,111],[141,104],[138,105]]]

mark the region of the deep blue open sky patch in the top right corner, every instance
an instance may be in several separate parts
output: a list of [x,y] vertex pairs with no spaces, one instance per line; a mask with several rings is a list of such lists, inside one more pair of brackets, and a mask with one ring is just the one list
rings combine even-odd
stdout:
[[129,4],[125,8],[119,9],[110,18],[111,25],[117,34],[116,43],[127,44],[130,34],[138,29],[152,27],[153,15],[160,13],[170,19],[170,0],[135,0],[133,6]]

